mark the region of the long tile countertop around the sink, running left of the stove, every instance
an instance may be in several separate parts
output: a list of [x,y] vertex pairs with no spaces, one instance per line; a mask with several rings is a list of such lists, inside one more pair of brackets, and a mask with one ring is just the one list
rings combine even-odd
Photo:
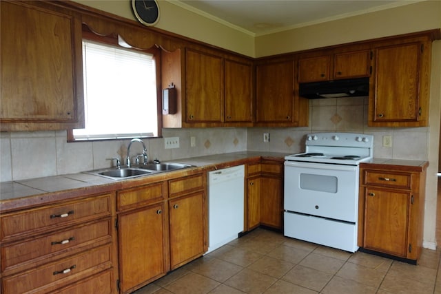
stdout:
[[[198,171],[212,170],[234,165],[240,165],[253,158],[272,158],[283,160],[288,154],[276,152],[243,151],[229,154],[216,154],[170,160],[170,162],[194,165]],[[185,171],[194,170],[185,169]],[[132,178],[127,180],[110,180],[92,174],[67,174],[63,176],[49,176],[32,178],[12,182],[0,182],[0,211],[13,211],[26,207],[57,202],[94,193],[110,193],[121,187],[142,185],[142,180],[167,180],[167,176],[179,171],[159,173],[152,176]],[[182,173],[181,173],[182,174]],[[185,174],[184,174],[185,175]]]

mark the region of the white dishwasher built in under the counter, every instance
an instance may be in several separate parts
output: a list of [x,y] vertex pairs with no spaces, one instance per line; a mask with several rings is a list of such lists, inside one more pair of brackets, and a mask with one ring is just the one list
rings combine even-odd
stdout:
[[238,238],[243,231],[244,181],[244,165],[209,171],[207,253]]

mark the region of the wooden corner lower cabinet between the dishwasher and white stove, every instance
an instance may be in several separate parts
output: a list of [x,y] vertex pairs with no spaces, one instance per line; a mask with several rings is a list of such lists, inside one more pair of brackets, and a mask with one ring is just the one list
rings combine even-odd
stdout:
[[263,225],[283,229],[283,160],[260,160],[247,165],[246,229]]

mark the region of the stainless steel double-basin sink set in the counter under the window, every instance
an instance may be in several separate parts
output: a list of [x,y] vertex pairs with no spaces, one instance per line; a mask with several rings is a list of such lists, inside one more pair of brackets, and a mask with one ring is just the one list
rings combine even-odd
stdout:
[[193,167],[193,165],[185,165],[176,162],[161,162],[161,163],[147,163],[147,165],[133,165],[131,167],[121,167],[120,169],[112,167],[109,169],[96,169],[94,171],[84,171],[85,174],[92,174],[95,176],[102,176],[112,180],[125,180],[128,178],[137,178],[141,176],[148,176],[158,174],[165,171],[175,171],[178,169],[186,169]]

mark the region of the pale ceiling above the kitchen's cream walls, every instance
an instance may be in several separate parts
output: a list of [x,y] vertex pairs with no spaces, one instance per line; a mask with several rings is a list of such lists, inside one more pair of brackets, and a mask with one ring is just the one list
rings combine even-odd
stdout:
[[254,36],[342,19],[417,1],[409,0],[180,0],[172,1]]

